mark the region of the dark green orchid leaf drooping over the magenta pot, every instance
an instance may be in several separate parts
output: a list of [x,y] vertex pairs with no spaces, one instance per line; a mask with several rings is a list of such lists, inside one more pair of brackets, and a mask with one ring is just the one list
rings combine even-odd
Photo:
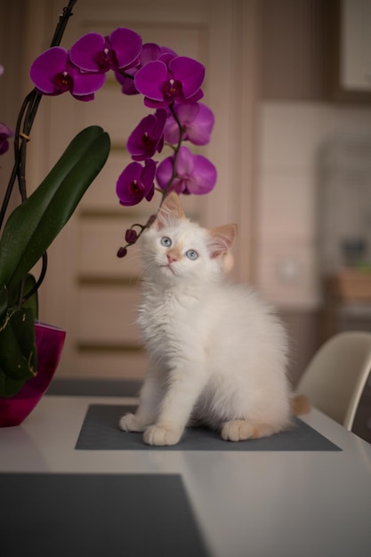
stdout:
[[33,311],[10,308],[0,329],[0,394],[12,396],[36,371]]

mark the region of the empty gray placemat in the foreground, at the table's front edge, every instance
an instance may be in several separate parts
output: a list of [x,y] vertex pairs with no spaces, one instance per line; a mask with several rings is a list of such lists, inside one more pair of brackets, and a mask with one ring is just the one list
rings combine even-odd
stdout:
[[0,473],[4,557],[206,557],[177,474]]

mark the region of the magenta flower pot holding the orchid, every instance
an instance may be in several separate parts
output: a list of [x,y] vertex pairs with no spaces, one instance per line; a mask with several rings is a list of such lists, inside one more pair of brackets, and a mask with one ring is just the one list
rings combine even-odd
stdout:
[[37,321],[35,335],[37,374],[12,397],[0,396],[0,427],[19,425],[27,418],[44,395],[58,367],[66,331]]

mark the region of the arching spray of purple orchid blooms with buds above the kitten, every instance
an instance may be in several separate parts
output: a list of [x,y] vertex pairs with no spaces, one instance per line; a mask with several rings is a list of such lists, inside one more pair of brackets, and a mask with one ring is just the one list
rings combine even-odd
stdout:
[[[206,145],[214,126],[214,114],[199,102],[205,67],[198,61],[178,56],[171,49],[153,43],[142,44],[141,36],[129,28],[117,28],[109,36],[87,33],[69,51],[55,46],[43,52],[31,66],[36,89],[47,95],[69,92],[79,101],[93,101],[105,84],[109,71],[125,95],[142,94],[144,106],[155,109],[141,119],[130,134],[126,148],[133,158],[117,179],[117,196],[123,206],[150,201],[155,180],[165,196],[204,194],[214,188],[216,170],[201,155],[192,154],[183,141]],[[158,164],[154,157],[164,146],[173,155]],[[126,230],[123,257],[153,219]],[[139,233],[134,230],[140,229]]]

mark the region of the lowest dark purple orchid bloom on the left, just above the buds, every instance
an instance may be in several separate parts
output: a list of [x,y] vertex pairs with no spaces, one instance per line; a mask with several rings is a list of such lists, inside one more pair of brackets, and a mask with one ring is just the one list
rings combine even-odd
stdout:
[[127,165],[117,180],[116,192],[121,205],[133,206],[143,198],[150,201],[155,193],[156,163],[147,158],[144,167],[134,162]]

